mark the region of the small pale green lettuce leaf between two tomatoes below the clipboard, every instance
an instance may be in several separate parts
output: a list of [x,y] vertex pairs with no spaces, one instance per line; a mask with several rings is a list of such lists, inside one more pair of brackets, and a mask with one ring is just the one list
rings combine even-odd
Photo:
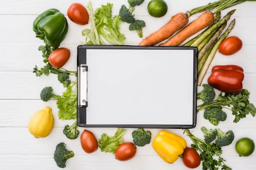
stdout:
[[102,152],[116,153],[117,147],[124,142],[126,129],[118,128],[114,136],[103,133],[99,139],[99,148]]

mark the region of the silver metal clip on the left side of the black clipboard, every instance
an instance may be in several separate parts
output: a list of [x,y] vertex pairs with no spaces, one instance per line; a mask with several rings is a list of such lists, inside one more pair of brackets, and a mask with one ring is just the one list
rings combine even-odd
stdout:
[[78,67],[78,106],[79,107],[87,107],[87,73],[88,73],[88,66],[87,65],[80,65]]

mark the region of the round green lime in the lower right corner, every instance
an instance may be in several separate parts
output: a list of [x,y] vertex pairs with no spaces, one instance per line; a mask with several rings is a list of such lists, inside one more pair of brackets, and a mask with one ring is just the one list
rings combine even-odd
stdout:
[[255,144],[250,138],[241,138],[236,142],[236,152],[239,156],[250,156],[255,149]]

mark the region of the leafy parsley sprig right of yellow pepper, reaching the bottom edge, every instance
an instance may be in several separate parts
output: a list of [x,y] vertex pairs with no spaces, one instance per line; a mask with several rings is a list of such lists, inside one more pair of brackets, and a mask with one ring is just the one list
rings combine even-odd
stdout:
[[[204,142],[202,139],[195,137],[188,129],[184,129],[184,133],[192,140],[191,147],[200,152],[203,170],[218,170],[218,167],[221,167],[221,170],[231,170],[230,167],[224,164],[225,160],[221,157],[221,147],[218,147],[215,143],[208,144]],[[215,156],[218,159],[215,159]]]

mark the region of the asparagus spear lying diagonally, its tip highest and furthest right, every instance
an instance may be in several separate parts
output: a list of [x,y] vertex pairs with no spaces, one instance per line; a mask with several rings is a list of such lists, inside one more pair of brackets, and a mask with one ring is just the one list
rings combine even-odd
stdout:
[[218,23],[215,23],[213,26],[211,26],[211,28],[209,28],[207,31],[204,32],[204,34],[202,34],[197,40],[195,40],[195,42],[191,45],[193,47],[197,47],[202,41],[204,41],[204,39],[211,34],[211,32],[213,30],[215,30],[216,28],[218,28],[219,26],[221,26],[222,24],[226,23],[228,20],[230,20],[230,17],[232,14],[234,14],[234,12],[236,11],[236,9],[229,11],[227,13],[227,15],[225,17],[223,17],[223,19],[221,21],[219,21]]

